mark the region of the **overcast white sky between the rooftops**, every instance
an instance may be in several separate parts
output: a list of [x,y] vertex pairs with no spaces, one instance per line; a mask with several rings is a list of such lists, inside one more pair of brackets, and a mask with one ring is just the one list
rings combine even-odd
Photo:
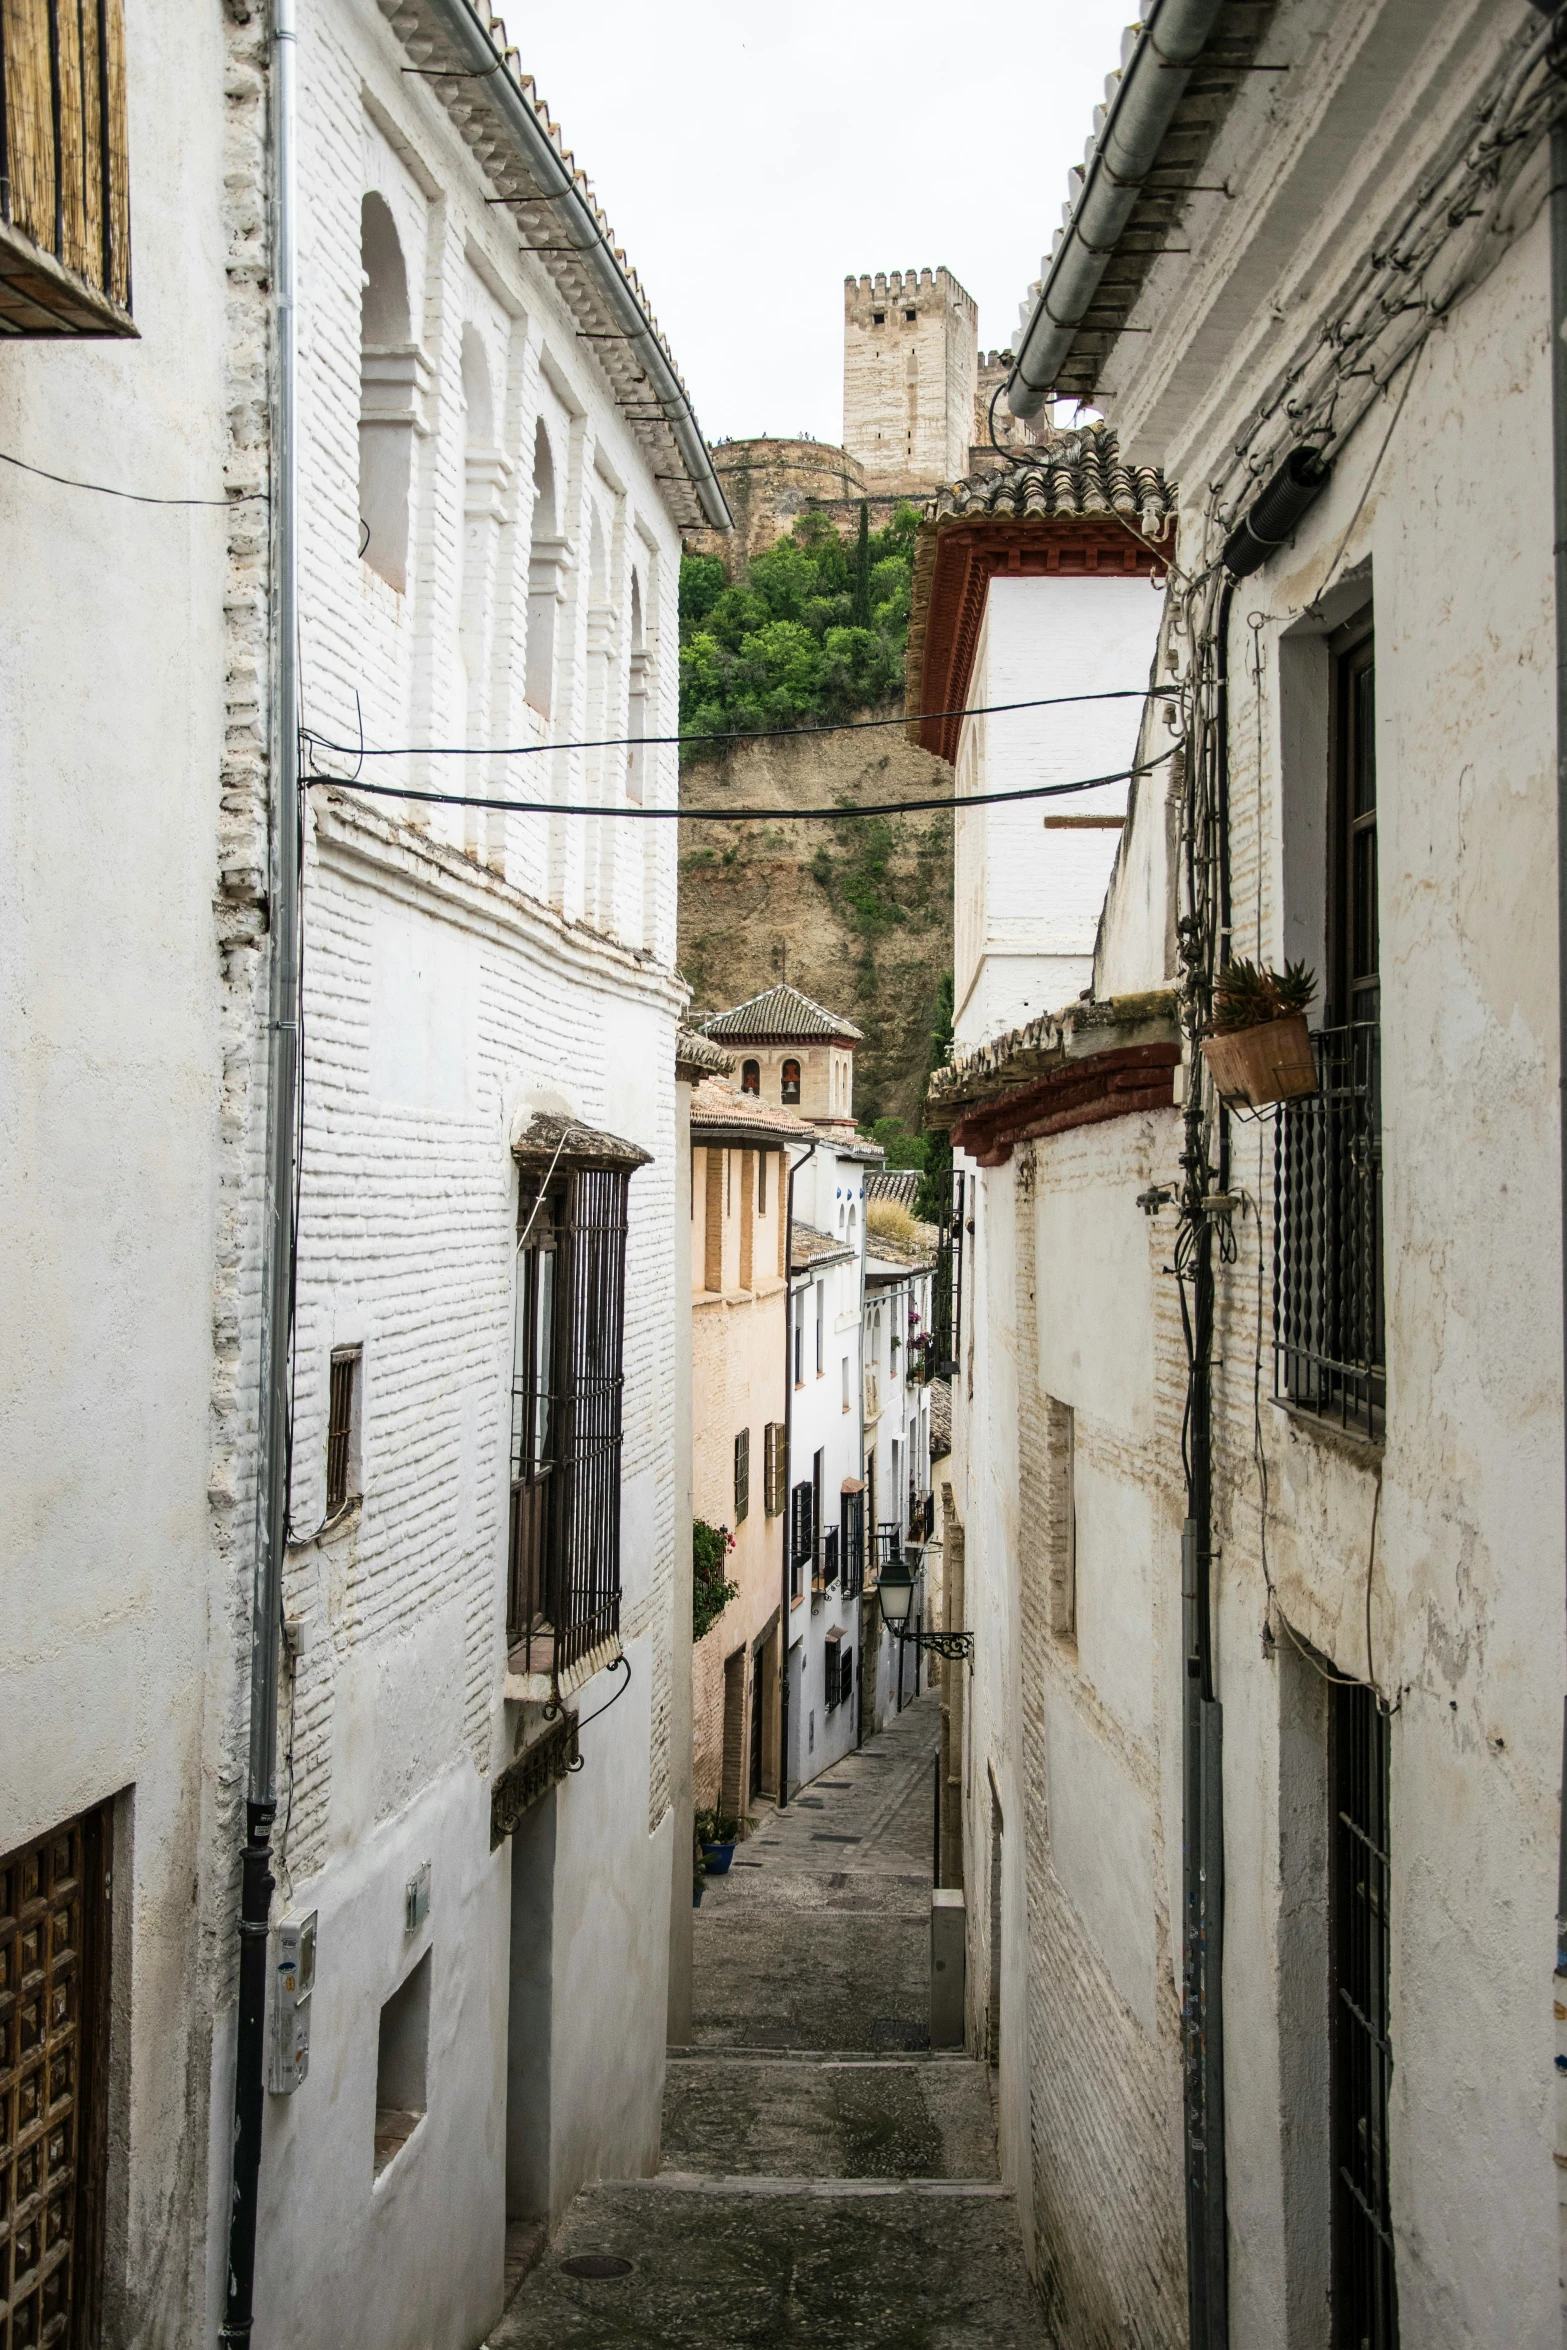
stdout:
[[947,268],[980,345],[1062,216],[1135,0],[505,7],[707,439],[843,430],[843,277]]

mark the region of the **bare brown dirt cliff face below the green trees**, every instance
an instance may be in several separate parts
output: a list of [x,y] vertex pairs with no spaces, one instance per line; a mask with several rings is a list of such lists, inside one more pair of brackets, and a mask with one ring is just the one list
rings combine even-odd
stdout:
[[855,1116],[921,1123],[930,1022],[951,971],[951,813],[731,825],[740,808],[850,808],[951,799],[944,759],[902,726],[775,736],[681,776],[679,961],[693,1013],[724,1010],[787,975],[865,1029]]

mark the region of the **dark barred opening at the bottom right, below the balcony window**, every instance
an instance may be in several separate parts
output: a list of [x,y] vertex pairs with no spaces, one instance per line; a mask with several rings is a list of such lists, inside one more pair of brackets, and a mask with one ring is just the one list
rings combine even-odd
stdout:
[[1395,2350],[1398,2280],[1388,2197],[1388,1718],[1374,1690],[1334,1683],[1332,1854],[1332,2341]]

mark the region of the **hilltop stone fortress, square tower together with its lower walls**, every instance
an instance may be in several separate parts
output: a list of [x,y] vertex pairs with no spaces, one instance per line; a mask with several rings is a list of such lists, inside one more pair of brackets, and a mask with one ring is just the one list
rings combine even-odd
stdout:
[[[691,552],[721,555],[731,571],[766,552],[801,515],[829,515],[841,531],[869,505],[881,529],[897,505],[984,468],[989,407],[1013,367],[1010,350],[980,350],[973,294],[947,268],[876,270],[843,280],[843,446],[813,439],[735,439],[712,451],[735,517],[733,531],[691,531]],[[996,439],[1034,442],[996,404]]]

